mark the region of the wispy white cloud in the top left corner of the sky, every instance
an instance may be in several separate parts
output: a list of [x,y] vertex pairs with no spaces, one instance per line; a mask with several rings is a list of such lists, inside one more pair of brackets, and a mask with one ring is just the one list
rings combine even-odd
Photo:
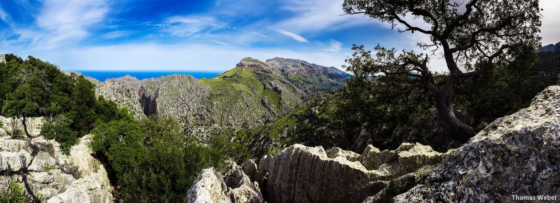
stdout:
[[45,1],[38,10],[35,24],[10,22],[10,16],[0,11],[4,22],[10,22],[15,41],[5,44],[27,49],[55,49],[72,45],[91,36],[90,30],[102,24],[110,4],[106,1]]

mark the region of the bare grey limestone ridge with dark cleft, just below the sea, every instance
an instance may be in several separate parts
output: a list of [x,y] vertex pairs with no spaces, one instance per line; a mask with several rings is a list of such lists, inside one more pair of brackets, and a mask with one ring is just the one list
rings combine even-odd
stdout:
[[99,82],[95,92],[113,100],[119,108],[128,108],[135,118],[157,114],[188,123],[195,118],[206,119],[209,111],[206,105],[208,87],[190,75],[144,80],[124,76]]

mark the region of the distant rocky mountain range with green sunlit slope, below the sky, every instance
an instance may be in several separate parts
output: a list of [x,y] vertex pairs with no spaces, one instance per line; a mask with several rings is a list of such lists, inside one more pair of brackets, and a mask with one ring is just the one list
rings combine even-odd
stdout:
[[96,94],[127,107],[136,118],[158,114],[188,124],[250,128],[290,112],[310,95],[344,86],[349,74],[296,59],[244,58],[212,79],[131,76],[97,84]]

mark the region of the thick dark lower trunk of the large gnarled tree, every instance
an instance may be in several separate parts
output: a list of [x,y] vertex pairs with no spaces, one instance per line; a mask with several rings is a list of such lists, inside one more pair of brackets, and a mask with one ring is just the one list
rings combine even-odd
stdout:
[[444,129],[447,136],[461,143],[465,143],[469,141],[470,137],[474,136],[474,130],[455,116],[452,86],[452,84],[446,84],[444,89],[435,94],[437,122],[440,124],[440,127]]

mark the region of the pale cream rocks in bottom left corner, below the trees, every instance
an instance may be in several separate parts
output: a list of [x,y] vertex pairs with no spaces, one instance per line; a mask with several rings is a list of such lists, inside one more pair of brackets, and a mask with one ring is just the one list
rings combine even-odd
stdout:
[[[10,119],[0,117],[6,130]],[[30,133],[37,135],[41,119],[29,119]],[[24,140],[14,140],[0,128],[0,191],[8,182],[20,183],[27,202],[113,202],[113,186],[105,167],[91,156],[91,136],[78,140],[69,156],[53,140],[37,137],[28,150]],[[36,197],[36,199],[35,199]]]

